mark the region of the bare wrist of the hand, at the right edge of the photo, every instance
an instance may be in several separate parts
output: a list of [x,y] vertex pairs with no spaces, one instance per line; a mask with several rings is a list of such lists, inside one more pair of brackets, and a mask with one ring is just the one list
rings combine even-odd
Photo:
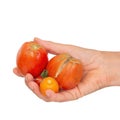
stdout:
[[108,86],[120,86],[120,52],[104,52]]

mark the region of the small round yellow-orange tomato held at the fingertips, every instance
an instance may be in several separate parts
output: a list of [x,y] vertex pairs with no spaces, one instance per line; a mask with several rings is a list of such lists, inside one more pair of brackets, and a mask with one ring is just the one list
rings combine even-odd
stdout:
[[52,77],[45,77],[40,83],[40,92],[46,96],[46,90],[53,90],[54,92],[59,92],[59,85],[57,81]]

